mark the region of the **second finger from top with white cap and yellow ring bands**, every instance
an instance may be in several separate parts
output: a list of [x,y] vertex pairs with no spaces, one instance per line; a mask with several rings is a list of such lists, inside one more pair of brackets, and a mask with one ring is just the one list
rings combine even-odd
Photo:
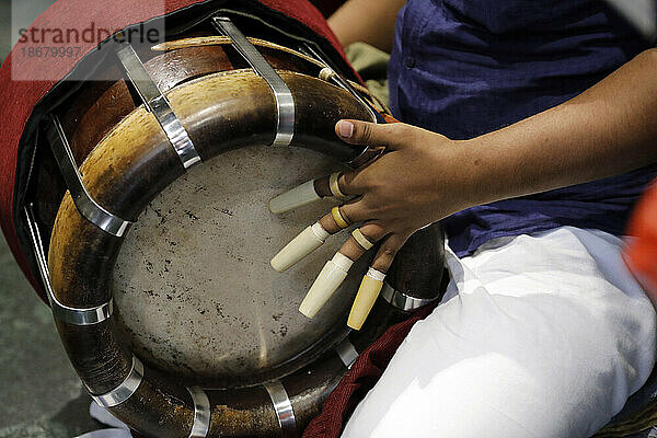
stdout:
[[[322,217],[312,226],[306,228],[272,258],[272,267],[283,273],[303,257],[322,246],[326,238],[349,227],[358,218],[365,217],[361,203],[346,204],[334,207],[328,215]],[[356,218],[355,220],[353,218]]]

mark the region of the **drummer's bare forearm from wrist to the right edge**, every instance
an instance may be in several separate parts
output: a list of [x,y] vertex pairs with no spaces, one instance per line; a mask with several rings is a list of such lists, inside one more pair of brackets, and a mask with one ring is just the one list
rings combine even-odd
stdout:
[[465,141],[476,204],[624,173],[657,161],[657,50],[577,97]]

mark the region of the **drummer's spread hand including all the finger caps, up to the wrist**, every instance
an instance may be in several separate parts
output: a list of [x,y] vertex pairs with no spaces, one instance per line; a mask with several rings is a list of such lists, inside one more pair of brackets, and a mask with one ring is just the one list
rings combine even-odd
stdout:
[[353,196],[292,240],[272,260],[272,266],[283,272],[319,247],[328,234],[358,223],[356,233],[319,274],[299,310],[312,318],[351,264],[380,242],[347,322],[360,328],[404,242],[420,228],[479,201],[485,191],[475,184],[479,162],[470,158],[472,152],[463,142],[400,123],[341,120],[335,131],[346,142],[384,148],[384,152],[337,180],[322,177],[272,200],[272,211],[283,212],[318,197]]

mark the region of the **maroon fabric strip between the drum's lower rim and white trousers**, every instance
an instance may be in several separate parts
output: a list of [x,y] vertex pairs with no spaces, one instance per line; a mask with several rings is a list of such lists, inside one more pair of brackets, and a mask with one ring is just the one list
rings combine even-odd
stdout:
[[333,390],[322,413],[308,425],[303,438],[337,438],[356,405],[379,381],[390,359],[413,325],[428,316],[438,302],[416,311],[413,316],[388,331],[358,356],[358,359]]

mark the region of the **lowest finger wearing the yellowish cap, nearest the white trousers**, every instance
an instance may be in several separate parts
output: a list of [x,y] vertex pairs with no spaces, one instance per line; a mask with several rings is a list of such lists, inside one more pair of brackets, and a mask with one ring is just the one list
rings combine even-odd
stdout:
[[385,273],[390,268],[395,254],[403,246],[404,242],[408,239],[407,235],[391,234],[377,252],[372,265],[368,269],[367,274],[362,277],[358,293],[351,306],[347,325],[354,330],[360,330],[367,316],[369,315],[381,289],[383,288],[383,280],[385,279]]

